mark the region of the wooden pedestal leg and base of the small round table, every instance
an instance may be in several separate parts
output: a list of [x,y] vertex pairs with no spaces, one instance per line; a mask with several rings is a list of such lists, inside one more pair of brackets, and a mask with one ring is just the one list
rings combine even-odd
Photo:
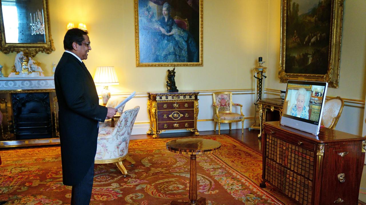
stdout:
[[206,205],[206,198],[197,200],[197,167],[196,155],[191,155],[191,170],[189,176],[189,200],[190,202],[172,201],[171,205]]

